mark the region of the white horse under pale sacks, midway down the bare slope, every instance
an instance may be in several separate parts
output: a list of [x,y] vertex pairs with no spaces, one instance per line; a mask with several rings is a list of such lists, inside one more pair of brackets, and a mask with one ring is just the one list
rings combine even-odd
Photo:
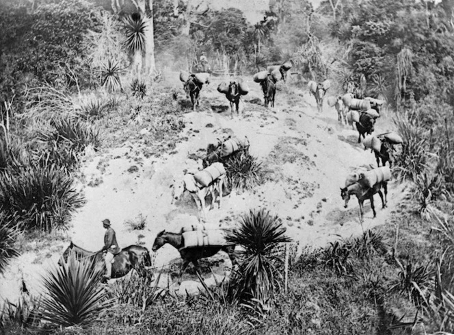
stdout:
[[221,201],[222,201],[222,184],[224,184],[224,177],[225,175],[221,175],[209,184],[209,186],[202,186],[196,182],[196,179],[191,173],[187,173],[181,182],[176,182],[170,186],[172,188],[172,202],[174,200],[180,199],[183,195],[185,190],[187,190],[193,197],[194,201],[196,201],[197,210],[199,214],[199,221],[206,221],[206,206],[205,206],[205,198],[207,195],[211,194],[211,206],[210,209],[213,209],[215,203],[215,190],[219,193],[219,208],[221,208]]

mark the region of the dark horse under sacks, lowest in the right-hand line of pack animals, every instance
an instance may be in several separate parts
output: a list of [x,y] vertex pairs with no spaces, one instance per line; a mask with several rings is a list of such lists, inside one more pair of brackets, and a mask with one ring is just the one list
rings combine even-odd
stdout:
[[[385,193],[384,198],[382,188],[384,189]],[[369,199],[371,201],[373,217],[375,218],[375,216],[377,216],[377,213],[375,212],[375,206],[373,204],[373,195],[375,195],[375,193],[378,193],[378,195],[382,199],[382,208],[386,208],[386,196],[388,195],[387,182],[379,182],[372,187],[368,187],[360,181],[345,188],[341,188],[341,197],[345,201],[344,208],[347,208],[350,196],[356,195],[356,197],[358,198],[358,203],[360,204],[360,220],[362,221],[362,217],[364,216],[364,200]]]

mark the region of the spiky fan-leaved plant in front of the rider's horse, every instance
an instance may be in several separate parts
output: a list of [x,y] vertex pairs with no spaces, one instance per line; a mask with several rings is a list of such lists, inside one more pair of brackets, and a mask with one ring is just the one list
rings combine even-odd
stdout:
[[55,325],[90,325],[113,304],[101,286],[103,269],[92,260],[76,260],[53,267],[43,277],[46,295],[41,301],[41,317]]

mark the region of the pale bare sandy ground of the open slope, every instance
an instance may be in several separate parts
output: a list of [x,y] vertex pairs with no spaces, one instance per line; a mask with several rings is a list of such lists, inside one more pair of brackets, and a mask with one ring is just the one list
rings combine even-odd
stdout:
[[[143,243],[148,249],[162,229],[178,232],[185,225],[197,224],[192,197],[185,195],[181,201],[172,203],[170,185],[174,179],[183,177],[184,169],[201,166],[200,160],[188,158],[190,154],[200,153],[208,142],[225,132],[248,136],[250,153],[262,160],[269,171],[267,182],[252,193],[224,197],[222,208],[215,206],[209,211],[206,226],[232,227],[250,208],[265,207],[283,219],[289,236],[302,249],[323,247],[339,236],[348,238],[386,223],[404,196],[402,188],[393,183],[389,185],[388,208],[382,210],[376,196],[375,219],[369,201],[365,203],[362,225],[356,199],[351,200],[347,210],[343,208],[339,188],[347,173],[376,162],[373,153],[364,151],[357,143],[358,132],[338,123],[334,108],[325,104],[323,112],[318,113],[315,98],[308,95],[306,88],[294,90],[282,83],[276,93],[276,108],[265,109],[258,84],[250,82],[252,91],[240,104],[241,118],[230,119],[228,101],[216,91],[220,81],[214,78],[209,86],[204,86],[199,111],[185,114],[187,126],[181,138],[189,139],[178,142],[172,154],[146,158],[143,154],[146,147],[138,134],[122,147],[96,153],[85,162],[80,187],[87,202],[73,216],[69,233],[75,244],[89,250],[101,249],[105,232],[101,221],[105,218],[111,220],[120,245]],[[183,99],[181,84],[174,82],[174,86]],[[377,133],[388,129],[389,121],[378,121]],[[137,221],[139,215],[146,218],[146,228],[131,230],[126,222]],[[14,260],[0,282],[0,299],[14,301],[19,295],[21,278],[31,293],[40,293],[40,275],[55,264],[68,243],[69,240],[54,245],[44,261],[36,261],[34,251]],[[161,269],[174,264],[176,269],[178,258],[178,251],[165,245],[155,254],[154,266]],[[224,262],[226,256],[219,254],[217,258]],[[219,266],[215,272],[222,277],[223,271],[223,266]],[[200,284],[191,273],[183,277],[186,282],[181,284],[181,290],[191,291]],[[162,280],[168,282],[165,276]]]

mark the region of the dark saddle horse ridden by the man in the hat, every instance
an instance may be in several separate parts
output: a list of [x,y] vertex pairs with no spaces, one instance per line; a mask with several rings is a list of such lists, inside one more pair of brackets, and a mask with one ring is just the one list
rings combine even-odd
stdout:
[[[70,252],[74,252],[76,259],[81,260],[83,258],[92,258],[96,264],[105,266],[103,252],[102,251],[88,251],[77,247],[71,242],[69,247],[63,253],[64,262],[68,261],[68,255]],[[62,265],[61,259],[58,261],[59,265]],[[120,253],[114,256],[114,263],[112,264],[111,278],[119,278],[127,275],[129,271],[135,268],[135,266],[151,266],[150,251],[145,247],[139,245],[130,245],[120,251]]]

